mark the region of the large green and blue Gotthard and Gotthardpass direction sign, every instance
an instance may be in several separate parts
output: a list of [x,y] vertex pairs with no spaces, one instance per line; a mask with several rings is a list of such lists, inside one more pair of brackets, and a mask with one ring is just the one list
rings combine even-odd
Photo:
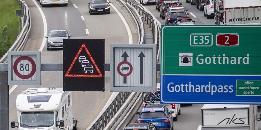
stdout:
[[163,25],[161,49],[161,103],[261,104],[260,25]]

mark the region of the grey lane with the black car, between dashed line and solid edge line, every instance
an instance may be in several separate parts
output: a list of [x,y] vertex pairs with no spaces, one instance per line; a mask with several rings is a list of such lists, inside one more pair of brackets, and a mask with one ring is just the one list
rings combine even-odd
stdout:
[[[90,15],[88,12],[89,1],[71,0],[85,19],[85,26],[89,31],[88,38],[105,39],[105,62],[110,62],[110,44],[128,44],[129,42],[126,27],[111,6],[110,14]],[[115,3],[112,2],[112,4]],[[106,72],[105,92],[73,92],[73,115],[79,120],[78,129],[85,130],[102,111],[112,94],[109,86],[110,75],[109,72]],[[78,98],[79,94],[86,95],[83,98]]]

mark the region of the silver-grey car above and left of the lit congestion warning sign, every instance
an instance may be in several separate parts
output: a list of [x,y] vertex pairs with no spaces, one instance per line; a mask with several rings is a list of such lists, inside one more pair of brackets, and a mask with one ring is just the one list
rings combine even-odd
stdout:
[[45,36],[47,38],[47,50],[49,51],[54,48],[63,48],[63,39],[70,39],[70,36],[72,35],[69,35],[68,31],[65,29],[50,31],[50,34]]

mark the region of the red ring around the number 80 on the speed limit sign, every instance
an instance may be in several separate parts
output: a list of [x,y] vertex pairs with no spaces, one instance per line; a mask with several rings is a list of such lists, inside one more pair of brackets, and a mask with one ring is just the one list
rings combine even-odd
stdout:
[[[31,73],[29,73],[28,75],[22,75],[18,72],[17,70],[17,65],[20,61],[22,60],[28,60],[31,64],[32,64],[32,71]],[[35,64],[35,61],[31,58],[31,57],[28,57],[28,56],[21,56],[19,58],[17,58],[15,61],[14,61],[14,67],[13,67],[13,70],[14,70],[14,73],[15,75],[17,75],[19,78],[21,79],[29,79],[30,77],[32,77],[34,74],[35,74],[35,71],[36,71],[36,64]]]

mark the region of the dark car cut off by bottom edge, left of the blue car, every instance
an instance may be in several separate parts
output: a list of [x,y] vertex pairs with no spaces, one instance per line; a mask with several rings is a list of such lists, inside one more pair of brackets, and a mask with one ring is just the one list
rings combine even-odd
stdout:
[[131,124],[127,124],[123,130],[127,130],[127,129],[157,130],[155,125],[152,123],[131,123]]

